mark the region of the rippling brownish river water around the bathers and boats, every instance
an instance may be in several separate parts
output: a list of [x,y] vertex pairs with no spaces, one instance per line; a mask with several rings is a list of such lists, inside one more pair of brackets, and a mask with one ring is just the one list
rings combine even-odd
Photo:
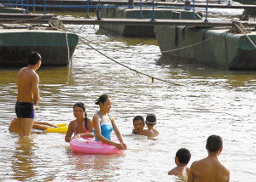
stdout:
[[[218,10],[241,14],[242,10]],[[207,156],[207,137],[224,139],[219,159],[230,168],[230,181],[255,181],[256,72],[224,71],[162,57],[156,40],[120,37],[98,26],[67,25],[93,48],[113,60],[167,82],[137,75],[80,42],[70,67],[41,67],[40,122],[73,121],[73,104],[81,101],[91,118],[101,94],[113,99],[115,117],[128,149],[122,155],[75,153],[64,134],[32,130],[29,137],[10,133],[15,117],[16,76],[20,68],[0,68],[0,180],[1,181],[183,181],[167,172],[174,156],[186,147],[189,166]],[[137,44],[138,43],[138,44]],[[160,132],[154,139],[131,134],[132,118],[154,113]],[[114,136],[114,134],[113,134]]]

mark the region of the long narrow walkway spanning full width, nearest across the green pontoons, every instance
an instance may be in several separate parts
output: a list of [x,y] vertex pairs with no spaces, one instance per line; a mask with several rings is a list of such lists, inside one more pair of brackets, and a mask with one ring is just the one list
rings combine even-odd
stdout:
[[[64,24],[74,25],[129,25],[129,26],[196,26],[196,27],[224,27],[233,26],[231,20],[166,20],[166,19],[115,19],[115,18],[56,18],[55,14],[0,14],[3,23],[40,23],[48,24],[49,20],[61,20]],[[256,26],[256,21],[237,20],[246,26]]]

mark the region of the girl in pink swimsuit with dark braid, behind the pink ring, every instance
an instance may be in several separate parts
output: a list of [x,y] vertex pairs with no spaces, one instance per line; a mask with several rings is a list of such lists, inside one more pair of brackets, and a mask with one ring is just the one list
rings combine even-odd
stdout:
[[[65,141],[70,142],[70,139],[79,137],[94,137],[91,120],[87,118],[85,105],[82,102],[73,105],[73,116],[77,119],[69,123]],[[74,136],[71,138],[73,133]]]

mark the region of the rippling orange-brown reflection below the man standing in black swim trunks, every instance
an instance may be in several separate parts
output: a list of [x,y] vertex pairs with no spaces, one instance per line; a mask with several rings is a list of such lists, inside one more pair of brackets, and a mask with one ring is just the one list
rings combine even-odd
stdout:
[[37,167],[33,162],[37,156],[33,152],[35,143],[32,136],[18,138],[15,145],[16,150],[13,155],[15,160],[12,162],[13,178],[20,181],[32,179],[37,174],[35,170]]

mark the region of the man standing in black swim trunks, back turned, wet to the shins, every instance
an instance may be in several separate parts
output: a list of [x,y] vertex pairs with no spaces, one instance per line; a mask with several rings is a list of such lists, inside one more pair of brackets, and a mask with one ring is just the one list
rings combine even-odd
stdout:
[[36,71],[41,65],[41,55],[32,52],[27,56],[28,66],[18,72],[18,95],[15,112],[20,122],[20,136],[28,136],[34,123],[34,105],[40,101],[39,77]]

